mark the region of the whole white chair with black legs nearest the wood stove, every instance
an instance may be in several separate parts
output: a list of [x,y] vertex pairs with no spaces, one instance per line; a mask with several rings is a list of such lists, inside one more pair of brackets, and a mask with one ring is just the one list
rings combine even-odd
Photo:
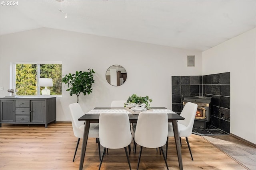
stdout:
[[[180,115],[182,117],[184,117],[185,119],[178,121],[178,129],[179,129],[180,139],[181,139],[181,137],[186,137],[188,149],[189,149],[190,156],[191,156],[192,160],[194,160],[194,159],[193,159],[190,145],[188,142],[188,136],[190,136],[192,134],[196,111],[197,111],[197,104],[194,104],[191,102],[186,103],[186,105],[184,106],[184,108],[182,109],[182,111],[180,113]],[[174,136],[174,133],[173,133],[173,128],[172,128],[172,123],[168,123],[168,137],[173,137],[173,136]],[[167,142],[166,142],[166,158],[167,158],[167,150],[168,150],[168,138],[167,138]]]

